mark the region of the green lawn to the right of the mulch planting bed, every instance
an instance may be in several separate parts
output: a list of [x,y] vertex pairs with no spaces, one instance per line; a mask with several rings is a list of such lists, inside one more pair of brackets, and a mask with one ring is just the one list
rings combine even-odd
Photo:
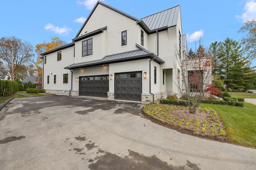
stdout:
[[255,105],[244,103],[244,107],[238,107],[200,104],[200,107],[210,107],[218,111],[232,142],[256,148]]

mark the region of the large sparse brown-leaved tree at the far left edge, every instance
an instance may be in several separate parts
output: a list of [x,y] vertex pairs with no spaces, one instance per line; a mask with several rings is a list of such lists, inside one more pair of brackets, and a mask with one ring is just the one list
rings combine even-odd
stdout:
[[[19,72],[24,70],[24,64],[31,64],[34,60],[34,48],[28,41],[22,41],[15,36],[2,37],[0,39],[0,59],[2,59],[0,70],[6,71],[6,68],[10,70],[12,74],[12,60],[13,60],[13,72],[18,76]],[[13,56],[12,56],[13,55]]]

